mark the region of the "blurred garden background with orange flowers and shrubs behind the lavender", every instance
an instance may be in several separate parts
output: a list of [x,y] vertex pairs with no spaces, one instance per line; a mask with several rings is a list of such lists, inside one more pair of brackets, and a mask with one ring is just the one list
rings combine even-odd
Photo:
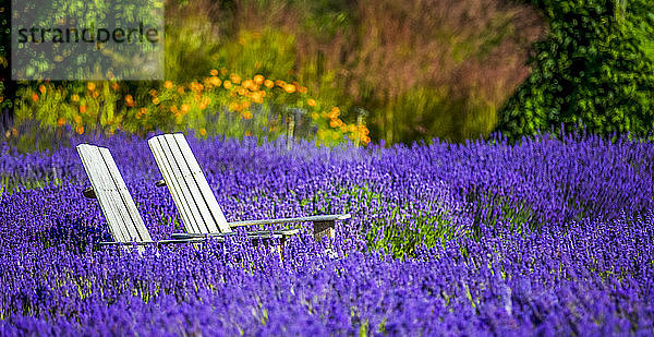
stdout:
[[12,82],[4,0],[1,136],[23,149],[156,130],[361,146],[573,128],[647,136],[653,8],[167,0],[166,81]]

